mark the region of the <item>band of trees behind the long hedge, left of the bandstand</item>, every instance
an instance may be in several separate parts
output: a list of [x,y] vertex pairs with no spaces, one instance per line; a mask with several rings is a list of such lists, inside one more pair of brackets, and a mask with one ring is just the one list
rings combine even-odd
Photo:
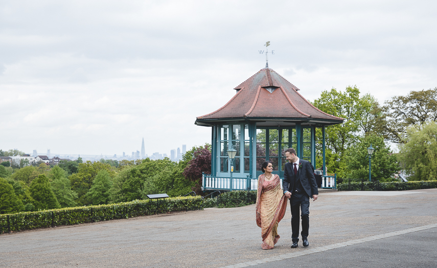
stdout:
[[111,165],[79,158],[53,167],[0,165],[0,214],[128,202],[153,193],[200,193],[202,172],[211,172],[208,144],[193,147],[178,163],[147,158]]

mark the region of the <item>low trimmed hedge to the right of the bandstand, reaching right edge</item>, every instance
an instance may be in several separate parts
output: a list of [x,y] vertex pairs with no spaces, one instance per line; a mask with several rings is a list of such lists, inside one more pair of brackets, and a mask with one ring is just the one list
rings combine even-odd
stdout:
[[337,184],[339,191],[404,191],[437,188],[437,181],[379,182],[354,181]]

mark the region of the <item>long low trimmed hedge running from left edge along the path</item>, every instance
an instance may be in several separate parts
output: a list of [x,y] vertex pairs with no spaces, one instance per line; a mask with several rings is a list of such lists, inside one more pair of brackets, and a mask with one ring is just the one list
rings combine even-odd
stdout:
[[10,231],[18,232],[36,228],[93,223],[171,211],[199,209],[203,209],[201,197],[177,197],[158,201],[134,200],[110,205],[3,214],[0,215],[0,234]]

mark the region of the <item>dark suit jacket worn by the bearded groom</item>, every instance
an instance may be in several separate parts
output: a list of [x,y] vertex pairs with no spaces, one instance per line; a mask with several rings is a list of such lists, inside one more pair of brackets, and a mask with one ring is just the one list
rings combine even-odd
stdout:
[[[302,166],[301,166],[302,165]],[[299,158],[299,168],[297,169],[297,175],[302,187],[304,187],[308,196],[311,198],[313,194],[318,194],[317,183],[314,178],[314,172],[311,168],[310,162]],[[284,180],[282,181],[282,187],[284,191],[293,191],[294,186],[294,167],[293,163],[285,163]]]

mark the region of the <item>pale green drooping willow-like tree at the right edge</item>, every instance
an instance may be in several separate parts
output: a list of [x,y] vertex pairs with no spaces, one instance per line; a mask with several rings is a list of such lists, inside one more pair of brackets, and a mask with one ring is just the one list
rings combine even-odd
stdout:
[[410,180],[437,180],[437,123],[422,124],[421,130],[411,126],[405,138],[399,161],[412,171]]

